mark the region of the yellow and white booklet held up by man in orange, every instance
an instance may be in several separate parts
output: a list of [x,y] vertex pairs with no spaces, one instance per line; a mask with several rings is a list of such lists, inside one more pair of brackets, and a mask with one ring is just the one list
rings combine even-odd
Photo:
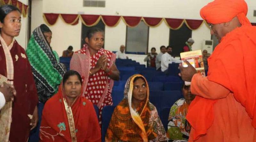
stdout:
[[[201,73],[202,76],[205,76],[204,62],[201,50],[182,52],[180,53],[180,58],[183,67],[188,67],[188,65],[184,62],[184,60],[187,60],[194,68],[196,68],[198,73]],[[190,83],[191,82],[185,81],[185,85],[190,85]]]

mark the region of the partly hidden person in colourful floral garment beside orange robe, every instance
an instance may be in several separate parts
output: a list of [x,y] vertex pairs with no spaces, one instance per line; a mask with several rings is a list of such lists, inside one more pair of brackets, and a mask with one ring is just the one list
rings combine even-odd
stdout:
[[170,110],[168,118],[167,138],[171,140],[188,140],[191,125],[186,120],[188,106],[195,99],[191,94],[190,86],[183,84],[182,93],[184,98],[176,101]]

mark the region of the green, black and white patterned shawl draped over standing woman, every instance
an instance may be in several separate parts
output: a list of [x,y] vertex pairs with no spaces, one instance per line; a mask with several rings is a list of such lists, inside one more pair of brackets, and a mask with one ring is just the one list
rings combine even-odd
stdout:
[[59,63],[58,54],[50,47],[40,26],[33,31],[26,52],[32,66],[39,101],[45,103],[58,91],[66,67]]

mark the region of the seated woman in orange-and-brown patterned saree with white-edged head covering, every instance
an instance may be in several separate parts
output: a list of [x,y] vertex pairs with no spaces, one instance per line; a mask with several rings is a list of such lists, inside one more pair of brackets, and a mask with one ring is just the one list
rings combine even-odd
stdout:
[[167,141],[156,107],[149,102],[148,82],[142,75],[136,74],[127,80],[124,99],[112,114],[105,141]]

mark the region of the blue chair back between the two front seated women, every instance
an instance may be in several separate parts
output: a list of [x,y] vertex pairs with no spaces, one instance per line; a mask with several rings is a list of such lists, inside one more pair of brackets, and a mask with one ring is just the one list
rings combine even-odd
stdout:
[[101,121],[102,122],[102,126],[101,126],[102,142],[105,142],[105,134],[107,132],[108,124],[111,120],[111,116],[115,108],[116,106],[105,106],[102,109],[102,121]]

